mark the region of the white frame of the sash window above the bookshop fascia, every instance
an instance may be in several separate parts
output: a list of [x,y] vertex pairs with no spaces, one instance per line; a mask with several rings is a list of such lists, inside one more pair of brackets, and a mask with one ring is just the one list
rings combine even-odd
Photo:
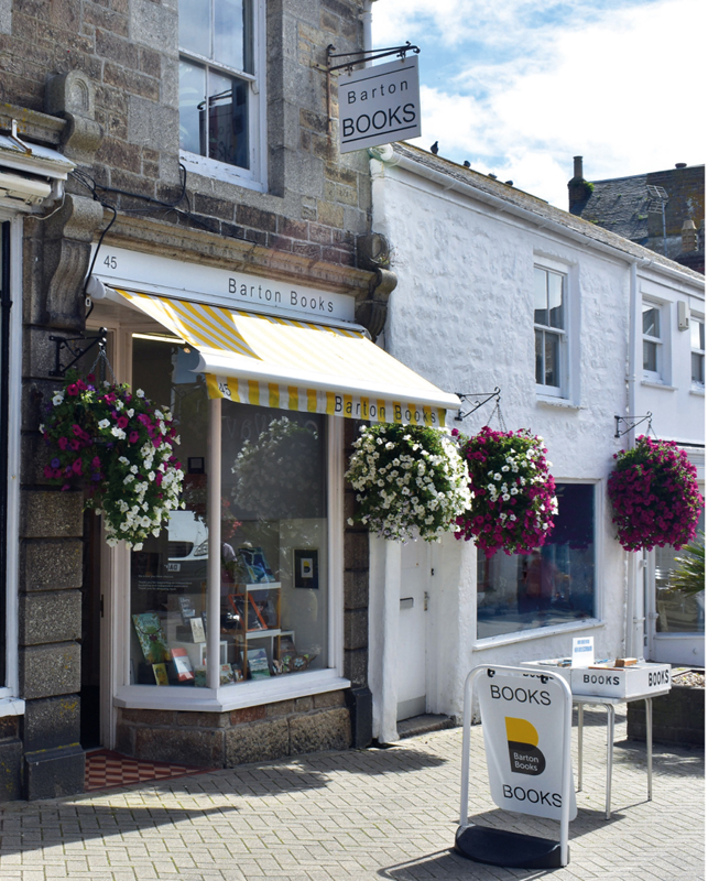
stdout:
[[[217,0],[218,2],[218,0]],[[179,159],[188,172],[217,181],[237,184],[259,193],[268,191],[266,162],[266,101],[265,101],[265,0],[252,0],[253,4],[253,73],[247,74],[194,52],[178,50],[179,58],[195,62],[227,76],[248,80],[249,88],[249,157],[250,168],[239,168],[226,162],[179,150]]]

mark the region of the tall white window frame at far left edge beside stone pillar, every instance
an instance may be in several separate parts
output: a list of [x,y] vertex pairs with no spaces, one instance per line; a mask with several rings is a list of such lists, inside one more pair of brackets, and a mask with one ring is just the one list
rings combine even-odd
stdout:
[[20,583],[20,425],[22,378],[22,225],[23,218],[0,208],[0,222],[10,221],[10,395],[8,437],[8,529],[4,536],[8,572],[6,583],[6,681],[0,687],[0,716],[21,716],[19,677],[19,583]]

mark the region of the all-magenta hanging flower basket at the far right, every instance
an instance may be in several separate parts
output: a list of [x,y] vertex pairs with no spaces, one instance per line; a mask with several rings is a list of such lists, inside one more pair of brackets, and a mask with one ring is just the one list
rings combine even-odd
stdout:
[[679,550],[696,535],[704,501],[696,469],[672,440],[640,435],[636,446],[614,455],[608,480],[612,522],[625,551]]

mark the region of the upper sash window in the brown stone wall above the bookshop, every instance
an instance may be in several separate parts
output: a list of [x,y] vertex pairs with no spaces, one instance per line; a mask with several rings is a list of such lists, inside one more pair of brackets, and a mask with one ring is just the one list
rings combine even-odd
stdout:
[[260,4],[179,0],[179,146],[190,171],[259,180]]

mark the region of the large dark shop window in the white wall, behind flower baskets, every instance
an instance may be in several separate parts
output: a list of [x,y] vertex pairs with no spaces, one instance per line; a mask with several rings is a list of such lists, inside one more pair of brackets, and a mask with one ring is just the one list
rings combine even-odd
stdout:
[[486,639],[595,616],[596,542],[592,483],[560,483],[558,515],[532,554],[478,554],[477,637]]

